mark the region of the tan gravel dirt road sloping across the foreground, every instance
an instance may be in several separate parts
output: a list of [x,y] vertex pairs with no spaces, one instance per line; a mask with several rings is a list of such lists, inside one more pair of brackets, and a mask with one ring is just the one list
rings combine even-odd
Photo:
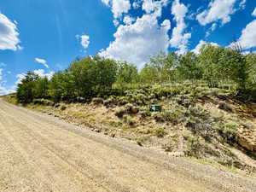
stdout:
[[256,180],[105,137],[0,99],[0,191],[256,191]]

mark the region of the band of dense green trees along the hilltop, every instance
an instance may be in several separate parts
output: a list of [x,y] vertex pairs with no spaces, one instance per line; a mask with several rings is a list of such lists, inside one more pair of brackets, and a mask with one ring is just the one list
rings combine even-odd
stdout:
[[206,44],[201,53],[160,53],[138,72],[137,67],[99,55],[77,59],[51,79],[28,72],[18,85],[21,103],[47,98],[54,102],[85,102],[96,96],[122,95],[137,84],[205,84],[237,90],[247,101],[256,100],[256,55]]

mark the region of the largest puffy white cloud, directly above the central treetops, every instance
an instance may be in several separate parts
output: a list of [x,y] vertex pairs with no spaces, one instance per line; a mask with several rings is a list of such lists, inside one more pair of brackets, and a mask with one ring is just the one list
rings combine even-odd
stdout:
[[113,34],[115,40],[100,55],[128,61],[141,68],[150,55],[166,51],[170,28],[170,20],[165,20],[159,26],[156,15],[143,15],[131,25],[119,26]]

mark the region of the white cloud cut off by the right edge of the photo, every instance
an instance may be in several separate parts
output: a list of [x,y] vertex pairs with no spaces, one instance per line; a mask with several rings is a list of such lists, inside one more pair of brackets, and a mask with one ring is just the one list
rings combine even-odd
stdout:
[[238,42],[243,49],[256,47],[256,20],[253,20],[242,30]]

